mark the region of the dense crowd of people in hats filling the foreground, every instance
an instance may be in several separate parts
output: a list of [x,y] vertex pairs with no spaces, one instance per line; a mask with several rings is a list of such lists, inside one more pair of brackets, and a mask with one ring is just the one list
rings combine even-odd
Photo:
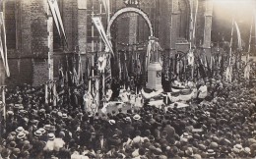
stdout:
[[[209,102],[167,110],[149,106],[92,115],[8,91],[2,158],[252,158],[256,156],[254,81],[210,79]],[[43,95],[43,94],[42,94]],[[177,106],[177,105],[175,105]]]

